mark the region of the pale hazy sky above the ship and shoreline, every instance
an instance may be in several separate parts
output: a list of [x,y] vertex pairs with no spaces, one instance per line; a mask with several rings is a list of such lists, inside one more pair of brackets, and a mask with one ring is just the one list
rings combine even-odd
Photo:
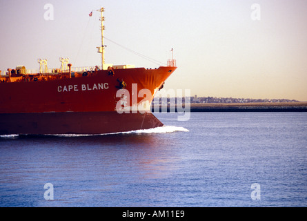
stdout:
[[[48,68],[59,68],[59,57],[100,65],[99,12],[88,14],[101,6],[108,39],[164,64],[174,48],[178,68],[166,89],[307,101],[306,0],[0,0],[0,70],[39,68],[38,58]],[[106,63],[159,66],[105,44]]]

